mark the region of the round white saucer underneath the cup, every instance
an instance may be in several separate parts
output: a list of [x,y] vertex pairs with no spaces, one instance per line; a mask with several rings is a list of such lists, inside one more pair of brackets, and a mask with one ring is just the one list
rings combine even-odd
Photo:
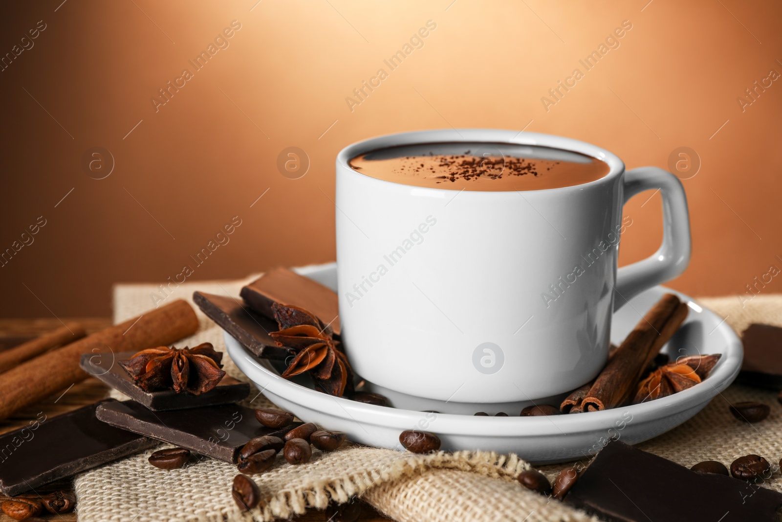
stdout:
[[[335,264],[296,270],[332,289],[336,286]],[[664,293],[656,286],[622,307],[612,321],[612,343],[619,344],[640,317]],[[256,358],[237,340],[224,334],[228,354],[239,369],[282,409],[328,430],[346,432],[351,441],[381,448],[403,449],[399,435],[404,430],[425,430],[439,435],[443,449],[513,452],[530,463],[556,463],[594,454],[610,437],[637,444],[680,425],[701,411],[723,391],[741,368],[743,348],[730,326],[712,311],[702,308],[682,293],[674,292],[690,306],[690,314],[676,336],[663,348],[673,358],[679,355],[722,354],[708,379],[688,390],[656,401],[603,412],[562,416],[508,417],[428,413],[429,401],[421,399],[414,409],[386,408],[346,398],[336,398],[283,379],[268,361]],[[407,408],[414,398],[407,396]],[[477,410],[476,410],[477,411]],[[490,411],[490,405],[486,410]]]

